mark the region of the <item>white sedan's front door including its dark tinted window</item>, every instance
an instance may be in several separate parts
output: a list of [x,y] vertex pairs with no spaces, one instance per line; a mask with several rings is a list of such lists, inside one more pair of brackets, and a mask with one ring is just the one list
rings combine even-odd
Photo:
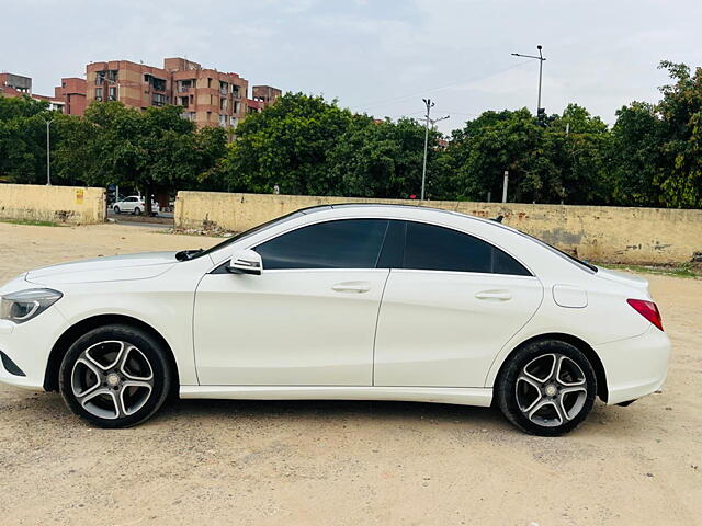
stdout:
[[387,220],[326,221],[252,247],[260,276],[213,272],[195,296],[201,385],[370,386]]

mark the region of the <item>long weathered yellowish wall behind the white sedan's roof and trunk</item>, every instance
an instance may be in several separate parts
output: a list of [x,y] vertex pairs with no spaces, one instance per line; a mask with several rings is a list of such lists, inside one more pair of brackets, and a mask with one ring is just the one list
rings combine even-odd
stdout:
[[702,252],[702,210],[663,208],[179,192],[176,227],[236,232],[307,206],[369,202],[432,206],[489,218],[502,215],[506,225],[598,262],[683,263]]

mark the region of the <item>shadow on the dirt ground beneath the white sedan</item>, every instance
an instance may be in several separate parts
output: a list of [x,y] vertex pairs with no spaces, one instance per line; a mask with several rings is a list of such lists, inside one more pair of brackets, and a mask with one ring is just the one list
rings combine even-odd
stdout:
[[[30,421],[53,421],[67,424],[80,420],[70,414],[60,395],[29,393],[15,391],[20,396],[2,400],[0,411],[5,420],[12,413],[15,418]],[[596,402],[592,412],[578,428],[580,432],[600,433],[609,426],[618,428],[618,435],[636,436],[644,432],[644,421],[637,412],[627,408],[607,407]],[[510,432],[522,435],[503,418],[499,409],[478,408],[428,402],[401,401],[353,401],[353,400],[180,400],[171,399],[149,421],[138,427],[188,425],[194,422],[206,424],[245,421],[270,425],[285,423],[328,424],[330,422],[354,423],[359,425],[388,424],[427,428],[432,425],[461,424],[466,432]],[[607,425],[604,425],[607,424]],[[83,425],[90,424],[83,422]]]

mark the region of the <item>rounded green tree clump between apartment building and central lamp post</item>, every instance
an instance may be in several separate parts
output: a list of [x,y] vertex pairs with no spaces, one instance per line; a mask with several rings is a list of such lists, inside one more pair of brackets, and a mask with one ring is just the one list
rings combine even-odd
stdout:
[[[432,132],[430,167],[438,138]],[[416,121],[376,122],[288,93],[237,128],[225,172],[233,191],[408,197],[421,187],[423,145]]]

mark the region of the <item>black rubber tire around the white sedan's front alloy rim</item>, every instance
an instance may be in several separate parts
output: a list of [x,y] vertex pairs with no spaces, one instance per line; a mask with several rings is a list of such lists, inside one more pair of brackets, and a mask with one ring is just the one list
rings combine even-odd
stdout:
[[[124,345],[121,342],[129,345],[128,348],[131,348],[129,352],[133,355],[136,354],[136,352],[134,351],[135,348],[137,352],[139,352],[139,355],[133,359],[137,359],[137,362],[143,359],[147,361],[147,365],[141,365],[141,367],[146,371],[148,371],[148,368],[150,368],[151,373],[149,380],[151,386],[150,390],[148,390],[148,397],[146,395],[146,391],[139,390],[140,388],[128,387],[128,382],[131,381],[132,377],[125,377],[124,375],[122,375],[122,371],[125,371],[124,368],[121,368],[120,370],[117,370],[117,367],[112,369],[98,369],[95,367],[95,364],[91,362],[91,365],[93,365],[93,367],[87,368],[86,370],[88,371],[88,376],[92,374],[92,376],[94,377],[94,380],[91,378],[91,382],[94,384],[95,387],[83,390],[83,400],[87,400],[89,398],[86,393],[91,392],[93,389],[95,389],[95,392],[98,390],[104,391],[114,389],[115,393],[118,392],[118,397],[116,397],[116,395],[110,396],[110,393],[93,396],[90,402],[81,403],[79,401],[79,397],[81,396],[80,392],[78,392],[77,395],[77,391],[80,390],[77,389],[77,384],[79,382],[78,377],[80,376],[79,367],[86,367],[83,365],[86,363],[86,353],[91,350],[103,348],[107,352],[111,352],[109,345],[115,345],[115,348],[118,348],[120,345],[122,346],[122,348],[127,348],[127,345]],[[106,354],[105,356],[109,356],[109,354]],[[61,397],[64,398],[64,401],[66,402],[68,408],[75,414],[99,427],[116,428],[137,425],[152,416],[161,408],[161,405],[168,398],[169,392],[171,391],[173,371],[171,370],[170,362],[167,356],[167,351],[162,347],[162,345],[148,332],[145,332],[140,329],[123,324],[104,325],[93,329],[79,338],[64,356],[59,369],[59,390]],[[81,363],[77,365],[79,358],[81,358]],[[111,359],[112,358],[110,358],[107,362],[110,362]],[[136,365],[139,364],[137,363]],[[126,364],[126,367],[129,367],[129,364]],[[101,375],[104,373],[104,377],[102,378],[102,380],[100,379],[101,377],[92,373],[94,370],[100,370]],[[116,376],[122,377],[121,384],[118,386],[111,387],[111,385],[107,384],[107,379],[111,379],[107,374],[110,374],[110,376],[114,376],[116,374],[115,371],[118,373]],[[134,371],[129,370],[129,373]],[[143,375],[148,376],[148,373],[143,373]],[[101,381],[103,380],[104,382],[101,384]],[[127,389],[132,389],[132,391]],[[123,390],[124,396],[122,395]],[[135,403],[138,409],[135,408],[136,410],[133,413],[123,411],[126,407],[126,402],[124,400],[128,399],[128,397],[133,395],[140,397],[138,403]],[[141,401],[141,399],[144,399],[144,401]],[[117,400],[122,401],[117,402]],[[114,403],[112,405],[112,411],[115,413],[114,416],[105,418],[101,414],[95,414],[95,412],[106,412],[99,407],[100,404],[103,404],[103,407],[109,407],[112,403]],[[121,414],[121,411],[123,414]]]

